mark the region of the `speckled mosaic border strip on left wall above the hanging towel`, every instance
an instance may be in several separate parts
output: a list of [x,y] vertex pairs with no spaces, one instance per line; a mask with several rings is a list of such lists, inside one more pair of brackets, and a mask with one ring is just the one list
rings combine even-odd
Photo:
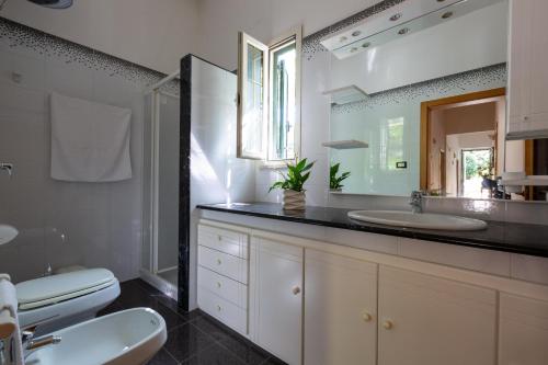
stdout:
[[[36,53],[38,57],[56,57],[66,64],[78,64],[92,70],[104,71],[111,77],[123,78],[142,89],[167,76],[2,16],[0,16],[0,41],[7,42],[10,48]],[[168,82],[161,90],[179,95],[179,80]]]

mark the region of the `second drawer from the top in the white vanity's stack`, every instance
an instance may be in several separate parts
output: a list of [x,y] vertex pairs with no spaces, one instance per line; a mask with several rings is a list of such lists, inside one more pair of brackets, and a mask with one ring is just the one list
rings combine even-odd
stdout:
[[198,246],[198,265],[248,284],[248,261],[225,252]]

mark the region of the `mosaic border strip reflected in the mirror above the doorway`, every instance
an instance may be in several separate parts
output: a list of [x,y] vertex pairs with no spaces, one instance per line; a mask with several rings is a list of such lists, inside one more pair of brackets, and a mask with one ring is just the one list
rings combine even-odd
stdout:
[[467,92],[492,89],[493,84],[503,87],[506,79],[506,64],[499,64],[375,93],[358,102],[333,105],[331,112],[346,114],[388,104],[439,99],[454,95],[455,90]]

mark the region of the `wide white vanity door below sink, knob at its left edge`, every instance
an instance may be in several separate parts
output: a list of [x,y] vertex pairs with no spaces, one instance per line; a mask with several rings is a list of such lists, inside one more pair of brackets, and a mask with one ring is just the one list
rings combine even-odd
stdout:
[[495,362],[496,293],[379,267],[379,365]]

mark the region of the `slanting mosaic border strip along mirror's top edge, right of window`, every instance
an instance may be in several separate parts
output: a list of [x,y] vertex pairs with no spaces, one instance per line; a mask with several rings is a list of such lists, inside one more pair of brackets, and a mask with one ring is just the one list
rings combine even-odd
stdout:
[[336,33],[352,24],[363,21],[366,18],[378,14],[381,11],[385,11],[393,5],[397,5],[403,1],[408,0],[384,0],[370,8],[367,8],[354,15],[351,15],[342,21],[339,21],[330,26],[324,27],[321,31],[318,31],[313,34],[306,36],[302,39],[302,56],[307,60],[311,60],[313,56],[318,53],[328,52],[321,44],[320,41],[327,37],[330,34]]

